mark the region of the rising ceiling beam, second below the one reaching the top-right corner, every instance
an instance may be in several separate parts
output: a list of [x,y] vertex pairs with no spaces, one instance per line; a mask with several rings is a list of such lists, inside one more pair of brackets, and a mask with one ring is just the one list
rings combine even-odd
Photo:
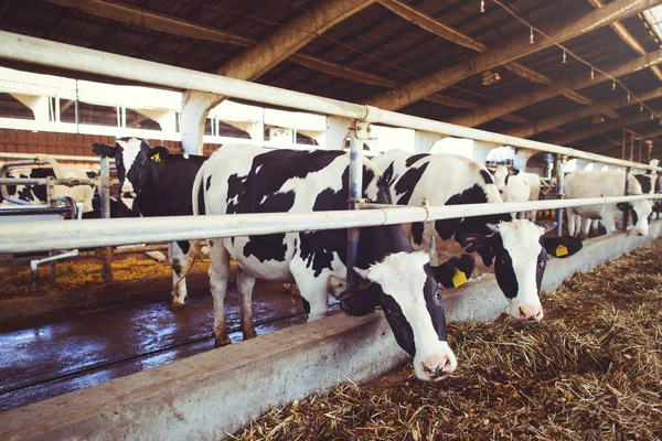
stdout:
[[[637,97],[644,101],[649,99],[661,98],[662,87],[658,87],[655,89],[638,94]],[[563,126],[568,122],[577,121],[581,118],[605,114],[607,111],[613,111],[613,109],[632,106],[634,104],[636,103],[632,100],[629,101],[627,97],[619,96],[607,101],[596,103],[596,105],[591,107],[584,107],[577,110],[566,111],[564,114],[558,114],[548,118],[543,118],[537,121],[533,121],[523,127],[516,127],[514,129],[506,130],[505,135],[511,135],[513,137],[519,138],[530,138],[536,133],[547,131],[552,128]]]

